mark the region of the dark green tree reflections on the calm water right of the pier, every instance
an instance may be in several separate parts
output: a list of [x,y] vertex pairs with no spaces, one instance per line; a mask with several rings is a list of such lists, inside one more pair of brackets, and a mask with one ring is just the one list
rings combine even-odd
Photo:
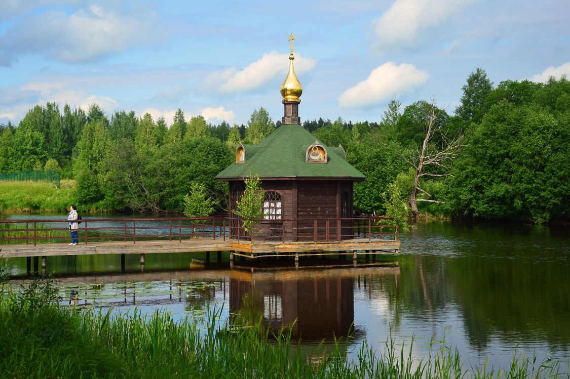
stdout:
[[[439,314],[457,304],[467,340],[478,352],[486,350],[497,334],[503,339],[547,341],[554,348],[570,345],[567,265],[484,256],[401,256],[399,261],[397,288],[385,283],[395,328],[403,311],[423,317],[435,328]],[[372,286],[378,280],[372,278]]]

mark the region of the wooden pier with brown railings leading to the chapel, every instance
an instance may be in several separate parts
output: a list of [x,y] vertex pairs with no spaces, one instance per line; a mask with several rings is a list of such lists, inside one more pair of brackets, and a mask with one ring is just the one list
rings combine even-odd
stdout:
[[[242,220],[221,217],[187,217],[158,219],[83,219],[79,229],[79,244],[70,245],[67,221],[62,220],[0,220],[0,257],[27,258],[27,271],[38,272],[39,257],[42,270],[46,257],[117,254],[124,267],[126,254],[140,254],[141,268],[145,254],[229,252],[242,259],[264,257],[349,256],[368,258],[376,254],[397,254],[400,250],[397,227],[384,225],[383,217],[360,219],[312,220],[312,226],[297,228],[310,241],[290,241],[284,225],[295,220],[279,220],[281,226],[253,233],[243,231]],[[261,220],[260,220],[261,222]],[[276,224],[272,220],[272,224]],[[279,224],[279,223],[277,223]],[[6,226],[7,225],[7,226]],[[351,226],[345,226],[351,225]],[[390,230],[390,228],[392,228]],[[62,241],[66,241],[63,243]],[[31,258],[34,258],[32,271]]]

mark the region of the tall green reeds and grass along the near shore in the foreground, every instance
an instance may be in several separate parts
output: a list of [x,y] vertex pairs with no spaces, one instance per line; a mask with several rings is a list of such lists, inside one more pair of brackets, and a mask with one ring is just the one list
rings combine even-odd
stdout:
[[[2,267],[0,267],[1,271]],[[1,273],[0,273],[1,275]],[[1,279],[0,279],[1,280]],[[4,279],[5,280],[5,279]],[[153,315],[64,307],[51,279],[0,294],[0,376],[129,378],[568,378],[559,361],[515,353],[510,367],[466,366],[457,349],[431,341],[429,356],[413,355],[389,336],[383,347],[339,338],[307,356],[284,329],[237,322],[219,326],[219,310],[204,324]],[[350,345],[350,346],[349,346]],[[354,359],[349,359],[351,351]]]

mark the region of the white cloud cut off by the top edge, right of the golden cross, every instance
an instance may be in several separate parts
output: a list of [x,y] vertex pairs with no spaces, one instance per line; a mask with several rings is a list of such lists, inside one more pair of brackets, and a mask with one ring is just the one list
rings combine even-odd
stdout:
[[378,46],[414,46],[421,32],[436,27],[477,0],[396,0],[373,20]]

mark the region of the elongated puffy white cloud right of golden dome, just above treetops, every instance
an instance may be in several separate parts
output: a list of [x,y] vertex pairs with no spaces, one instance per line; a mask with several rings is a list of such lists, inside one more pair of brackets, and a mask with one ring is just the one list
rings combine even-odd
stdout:
[[429,75],[413,64],[384,63],[370,72],[367,79],[343,92],[339,104],[345,108],[367,108],[379,102],[411,92],[414,87],[426,83]]

